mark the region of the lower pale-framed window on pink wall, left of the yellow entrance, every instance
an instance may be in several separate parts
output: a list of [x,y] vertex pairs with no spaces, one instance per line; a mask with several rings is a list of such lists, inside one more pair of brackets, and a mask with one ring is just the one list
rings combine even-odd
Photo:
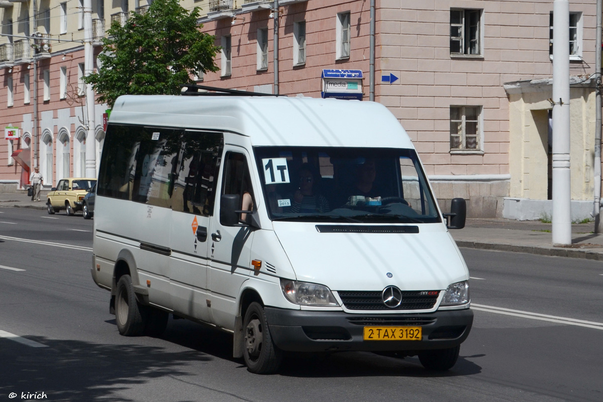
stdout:
[[450,151],[481,151],[481,106],[450,106]]

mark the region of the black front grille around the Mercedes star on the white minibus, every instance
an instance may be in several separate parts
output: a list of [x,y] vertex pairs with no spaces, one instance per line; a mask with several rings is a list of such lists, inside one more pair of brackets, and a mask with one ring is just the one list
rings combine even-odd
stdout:
[[402,303],[395,309],[385,306],[382,292],[339,291],[339,297],[348,310],[429,310],[438,300],[439,291],[404,291]]

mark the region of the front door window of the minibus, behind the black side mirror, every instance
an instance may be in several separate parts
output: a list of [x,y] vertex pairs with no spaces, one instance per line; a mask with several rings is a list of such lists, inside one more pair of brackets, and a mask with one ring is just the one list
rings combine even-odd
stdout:
[[[254,210],[253,186],[247,165],[247,158],[239,152],[227,152],[224,160],[224,176],[222,195],[238,194],[241,196],[241,210]],[[245,214],[241,214],[245,220]]]

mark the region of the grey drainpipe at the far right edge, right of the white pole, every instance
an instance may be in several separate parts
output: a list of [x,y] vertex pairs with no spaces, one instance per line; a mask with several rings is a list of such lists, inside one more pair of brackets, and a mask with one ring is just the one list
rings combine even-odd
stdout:
[[595,203],[593,216],[595,217],[595,233],[601,233],[601,14],[603,14],[603,0],[597,0],[597,31],[595,45],[595,75],[596,75],[596,103],[595,103]]

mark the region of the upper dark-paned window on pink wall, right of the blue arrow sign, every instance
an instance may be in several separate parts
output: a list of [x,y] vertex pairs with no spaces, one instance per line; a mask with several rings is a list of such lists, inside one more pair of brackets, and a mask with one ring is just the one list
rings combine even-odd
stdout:
[[450,54],[481,55],[482,10],[450,10]]

